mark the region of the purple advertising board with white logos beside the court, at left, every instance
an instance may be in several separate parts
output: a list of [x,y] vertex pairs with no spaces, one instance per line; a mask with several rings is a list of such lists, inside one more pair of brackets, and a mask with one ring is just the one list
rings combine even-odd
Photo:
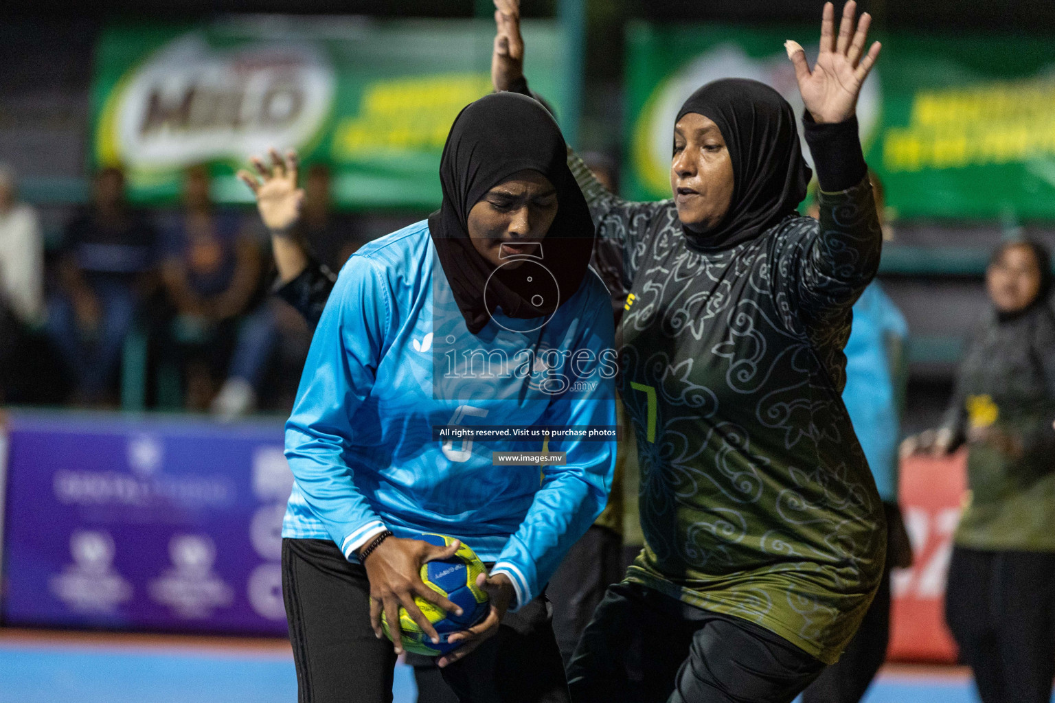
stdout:
[[8,625],[285,636],[279,421],[13,413]]

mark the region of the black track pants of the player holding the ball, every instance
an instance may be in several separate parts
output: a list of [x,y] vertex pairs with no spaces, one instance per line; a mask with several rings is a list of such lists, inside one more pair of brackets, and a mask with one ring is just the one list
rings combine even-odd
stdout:
[[[328,540],[282,541],[282,590],[300,703],[390,703],[396,655],[370,628],[366,570]],[[568,703],[544,595],[443,668],[463,703]]]

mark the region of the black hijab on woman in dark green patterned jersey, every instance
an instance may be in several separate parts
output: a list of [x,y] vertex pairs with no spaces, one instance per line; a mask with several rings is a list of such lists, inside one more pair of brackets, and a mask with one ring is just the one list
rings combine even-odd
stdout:
[[717,124],[734,179],[722,221],[705,232],[682,227],[694,249],[733,247],[795,212],[812,172],[802,156],[794,111],[780,93],[756,80],[724,78],[690,95],[674,121],[689,113]]

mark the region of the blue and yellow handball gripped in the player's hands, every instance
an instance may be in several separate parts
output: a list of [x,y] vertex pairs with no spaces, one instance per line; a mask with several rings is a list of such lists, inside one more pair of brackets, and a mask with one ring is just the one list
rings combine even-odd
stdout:
[[[440,547],[455,541],[443,534],[425,533],[417,539]],[[487,614],[487,594],[476,585],[476,578],[484,573],[483,562],[465,543],[458,548],[455,555],[442,561],[428,562],[421,566],[421,580],[426,586],[462,609],[462,614],[445,612],[442,608],[415,595],[414,602],[421,608],[428,622],[433,623],[436,633],[440,636],[439,644],[425,634],[421,626],[414,621],[406,609],[400,606],[399,624],[403,636],[403,648],[418,655],[439,657],[458,648],[457,642],[447,642],[447,637],[467,629],[483,620]],[[388,619],[381,613],[381,627],[388,639]]]

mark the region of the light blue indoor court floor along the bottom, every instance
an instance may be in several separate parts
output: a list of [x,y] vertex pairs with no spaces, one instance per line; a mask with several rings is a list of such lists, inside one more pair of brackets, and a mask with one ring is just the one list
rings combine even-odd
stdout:
[[[414,703],[396,671],[394,703]],[[283,640],[0,629],[0,703],[293,703]],[[888,665],[864,703],[974,703],[966,669]]]

